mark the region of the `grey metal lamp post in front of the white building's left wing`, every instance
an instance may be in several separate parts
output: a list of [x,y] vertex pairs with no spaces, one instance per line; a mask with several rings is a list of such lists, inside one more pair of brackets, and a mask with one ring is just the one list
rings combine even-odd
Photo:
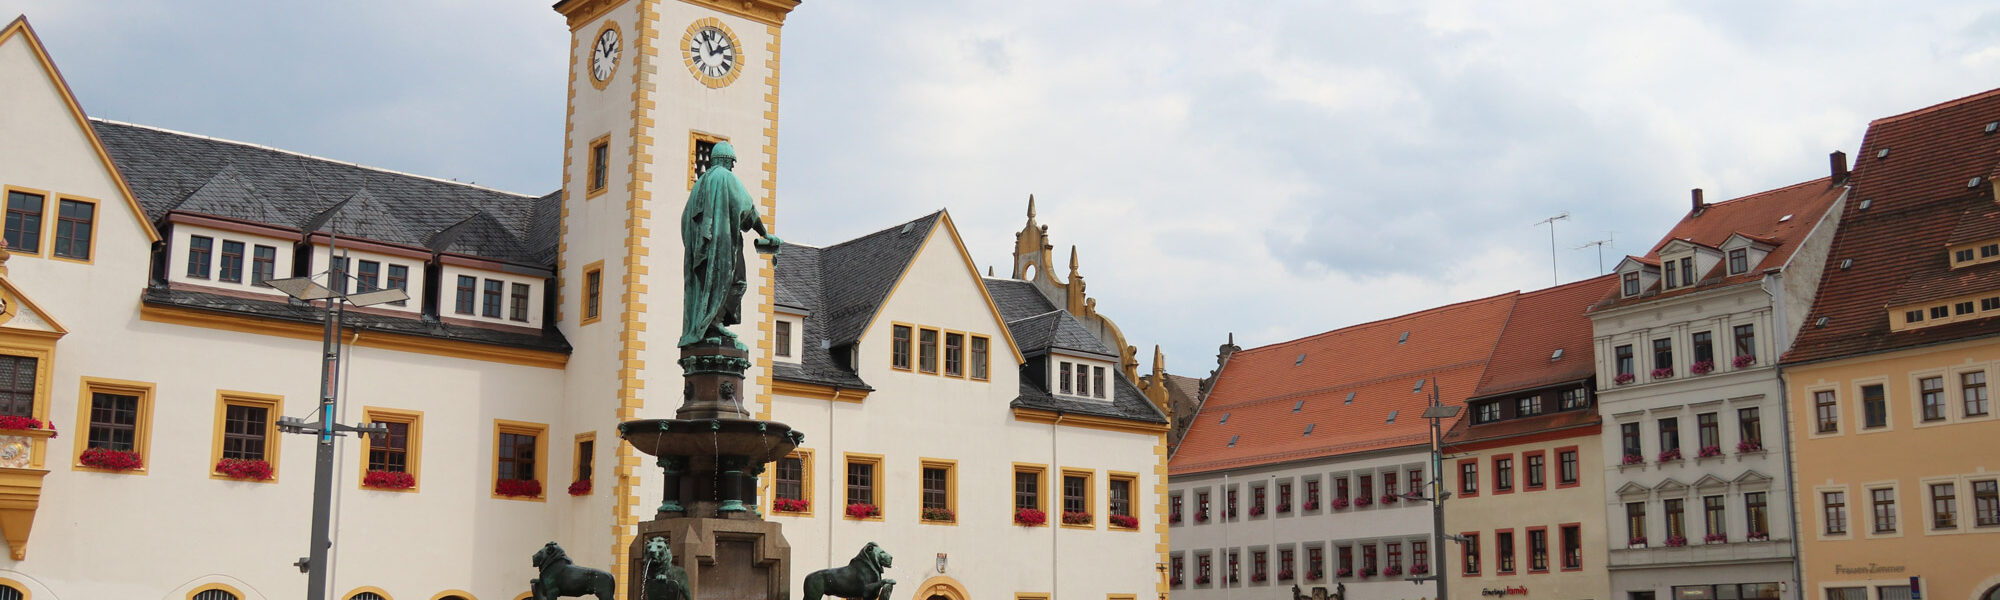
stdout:
[[[328,210],[326,218],[332,218],[332,214],[338,214],[340,208],[344,208],[344,206],[346,206],[346,200],[342,200],[332,210]],[[314,228],[308,228],[308,232],[310,230],[314,230]],[[328,560],[326,560],[326,556],[328,556],[328,550],[332,550],[332,546],[334,546],[334,540],[332,540],[334,438],[340,438],[346,432],[356,432],[356,434],[364,434],[364,436],[386,434],[388,432],[388,426],[384,426],[384,424],[344,426],[344,424],[334,422],[334,414],[336,414],[334,412],[334,402],[338,400],[338,392],[340,392],[340,388],[338,388],[340,386],[340,316],[344,312],[344,306],[348,306],[348,304],[354,304],[354,306],[372,306],[372,304],[400,302],[400,300],[408,300],[410,298],[410,294],[406,294],[404,290],[398,290],[398,288],[364,290],[364,292],[358,292],[358,294],[348,294],[346,292],[348,290],[346,268],[332,268],[332,264],[334,264],[334,250],[338,248],[338,244],[340,244],[340,230],[338,230],[338,224],[336,224],[332,236],[328,238],[328,248],[326,248],[326,256],[328,256],[328,260],[326,260],[328,262],[326,282],[330,286],[322,286],[322,284],[314,282],[312,276],[268,280],[266,282],[272,288],[284,292],[286,296],[304,300],[308,304],[314,302],[314,300],[324,300],[326,302],[326,330],[324,330],[324,338],[320,340],[320,406],[318,406],[318,414],[310,422],[304,420],[304,418],[296,418],[296,416],[280,416],[278,418],[278,430],[282,430],[286,434],[310,434],[310,436],[318,436],[320,438],[318,454],[316,454],[316,464],[314,464],[314,472],[312,472],[312,542],[310,542],[312,544],[312,552],[306,558],[300,558],[298,562],[294,562],[294,566],[298,566],[300,572],[308,574],[308,586],[310,586],[310,588],[306,588],[306,598],[308,600],[326,600],[326,580],[328,580],[328,570],[326,570]],[[340,260],[346,260],[346,258],[348,258],[346,254],[340,256]],[[338,278],[338,282],[336,282],[336,278]]]

